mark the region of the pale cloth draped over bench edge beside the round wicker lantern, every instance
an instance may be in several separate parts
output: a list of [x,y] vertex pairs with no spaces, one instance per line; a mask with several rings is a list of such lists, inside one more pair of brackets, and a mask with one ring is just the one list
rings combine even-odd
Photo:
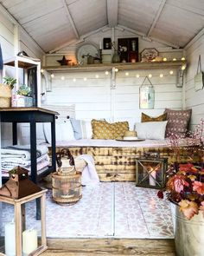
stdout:
[[81,174],[81,184],[94,187],[99,184],[99,175],[96,172],[96,167],[92,155],[81,154],[77,159],[83,159],[86,161],[87,165],[82,170]]

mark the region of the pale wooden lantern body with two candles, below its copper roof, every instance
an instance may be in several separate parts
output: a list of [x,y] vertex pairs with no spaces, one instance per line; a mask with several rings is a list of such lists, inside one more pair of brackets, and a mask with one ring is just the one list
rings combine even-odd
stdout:
[[[29,194],[20,199],[13,199],[0,195],[0,202],[14,206],[14,221],[6,223],[4,246],[0,246],[0,255],[40,255],[46,251],[46,215],[45,200],[47,190],[41,190],[35,194]],[[40,200],[41,205],[41,240],[37,238],[37,230],[26,229],[25,203],[30,200]],[[2,251],[3,249],[3,251]],[[3,254],[5,253],[5,254]]]

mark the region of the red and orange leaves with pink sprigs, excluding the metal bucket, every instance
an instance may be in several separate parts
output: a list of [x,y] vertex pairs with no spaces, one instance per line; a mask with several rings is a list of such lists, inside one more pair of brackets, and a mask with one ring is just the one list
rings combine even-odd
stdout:
[[[188,135],[188,147],[179,148],[179,138],[173,136],[170,141],[177,161],[169,166],[166,187],[158,192],[163,199],[164,194],[180,207],[180,211],[190,220],[200,211],[204,218],[204,120],[196,126],[194,133]],[[179,162],[180,150],[186,150],[187,163]],[[196,160],[196,162],[194,162]]]

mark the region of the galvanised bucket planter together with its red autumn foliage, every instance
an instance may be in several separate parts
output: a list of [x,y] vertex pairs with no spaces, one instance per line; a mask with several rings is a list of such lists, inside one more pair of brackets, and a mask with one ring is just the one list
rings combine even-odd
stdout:
[[[179,138],[171,138],[175,159],[169,166],[166,187],[158,192],[170,200],[174,228],[175,250],[177,256],[201,256],[204,252],[202,236],[204,233],[204,120],[190,133],[188,147],[177,147]],[[186,163],[179,163],[182,154]]]

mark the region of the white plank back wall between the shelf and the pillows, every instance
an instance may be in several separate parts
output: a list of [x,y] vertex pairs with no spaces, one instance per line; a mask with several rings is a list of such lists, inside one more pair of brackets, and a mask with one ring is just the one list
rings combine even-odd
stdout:
[[[110,88],[111,74],[105,75],[105,72],[55,73],[52,92],[47,94],[47,103],[75,104],[78,119],[125,120],[133,128],[133,124],[140,121],[142,111],[156,116],[162,114],[164,108],[182,108],[182,89],[175,86],[176,72],[169,75],[169,71],[170,69],[118,71],[116,89]],[[136,77],[137,74],[140,75],[139,78]],[[155,88],[155,108],[139,109],[139,87],[149,74],[152,74],[150,82]],[[162,78],[160,74],[163,74]],[[62,76],[64,80],[61,80]]]

